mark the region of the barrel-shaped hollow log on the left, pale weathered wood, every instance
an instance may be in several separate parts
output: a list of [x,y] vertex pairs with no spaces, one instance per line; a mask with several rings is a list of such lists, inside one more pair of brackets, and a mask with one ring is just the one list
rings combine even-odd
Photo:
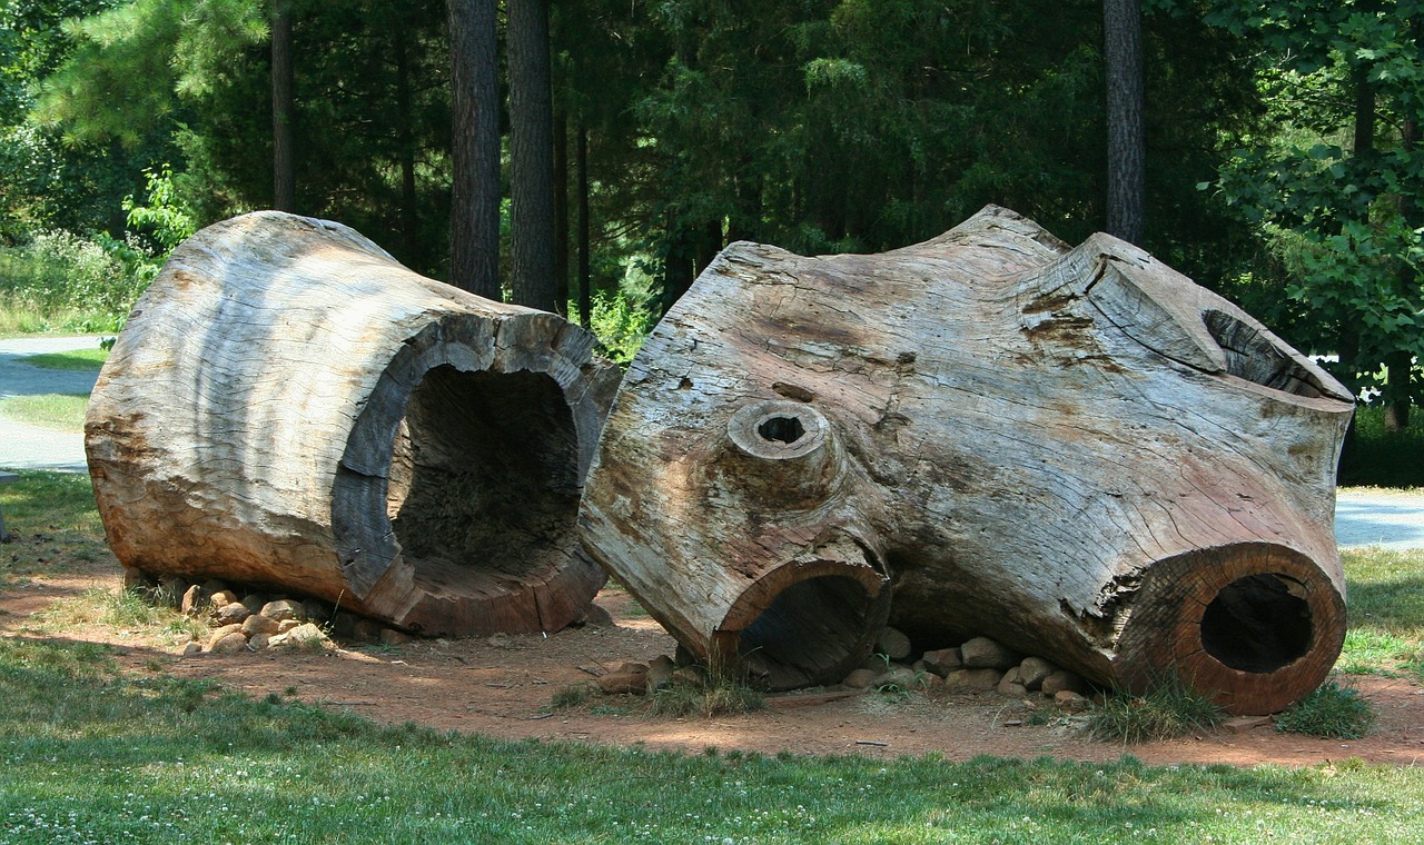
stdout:
[[262,212],[185,242],[90,401],[110,545],[150,575],[318,596],[427,634],[557,630],[605,575],[580,485],[594,339]]

